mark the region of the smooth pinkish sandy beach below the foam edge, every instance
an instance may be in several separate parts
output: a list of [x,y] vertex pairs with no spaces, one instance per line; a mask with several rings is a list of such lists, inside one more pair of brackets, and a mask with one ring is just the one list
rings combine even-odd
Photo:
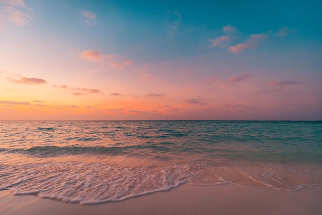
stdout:
[[320,214],[322,186],[299,191],[182,185],[122,202],[80,205],[0,192],[0,214]]

